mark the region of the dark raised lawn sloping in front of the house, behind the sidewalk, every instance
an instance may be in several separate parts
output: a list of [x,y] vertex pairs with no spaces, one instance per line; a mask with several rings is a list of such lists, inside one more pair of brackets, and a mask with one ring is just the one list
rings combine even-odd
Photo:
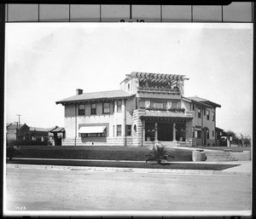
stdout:
[[[192,161],[191,150],[168,148],[172,161]],[[144,161],[148,147],[114,146],[20,146],[18,158],[70,158]]]

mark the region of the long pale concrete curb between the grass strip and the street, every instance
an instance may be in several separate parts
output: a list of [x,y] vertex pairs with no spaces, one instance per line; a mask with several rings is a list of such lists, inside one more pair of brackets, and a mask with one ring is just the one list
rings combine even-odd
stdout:
[[251,176],[251,173],[222,170],[166,170],[143,168],[118,168],[95,166],[62,166],[37,164],[6,164],[7,168],[34,169],[34,170],[84,170],[99,172],[130,172],[130,173],[169,173],[174,175],[201,175],[201,176]]

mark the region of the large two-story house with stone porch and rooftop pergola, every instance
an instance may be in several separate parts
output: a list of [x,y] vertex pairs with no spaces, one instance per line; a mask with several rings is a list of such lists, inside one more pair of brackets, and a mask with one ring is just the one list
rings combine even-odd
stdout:
[[65,107],[63,145],[216,145],[218,104],[183,95],[184,75],[131,72],[119,90],[83,93]]

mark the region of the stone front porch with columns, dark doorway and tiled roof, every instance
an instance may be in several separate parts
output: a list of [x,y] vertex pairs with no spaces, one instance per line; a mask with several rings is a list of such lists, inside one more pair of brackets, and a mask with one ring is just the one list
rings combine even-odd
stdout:
[[142,122],[142,145],[156,142],[166,147],[190,146],[192,116],[186,112],[145,110]]

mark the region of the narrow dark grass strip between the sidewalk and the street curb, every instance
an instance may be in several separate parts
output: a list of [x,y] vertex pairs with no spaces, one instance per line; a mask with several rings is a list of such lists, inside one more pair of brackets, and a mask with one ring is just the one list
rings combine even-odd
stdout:
[[171,170],[225,170],[238,164],[191,164],[191,163],[146,163],[146,162],[115,162],[115,161],[76,161],[76,160],[35,160],[15,158],[8,164],[38,164],[38,165],[65,165],[65,166],[96,166],[117,168],[145,168]]

